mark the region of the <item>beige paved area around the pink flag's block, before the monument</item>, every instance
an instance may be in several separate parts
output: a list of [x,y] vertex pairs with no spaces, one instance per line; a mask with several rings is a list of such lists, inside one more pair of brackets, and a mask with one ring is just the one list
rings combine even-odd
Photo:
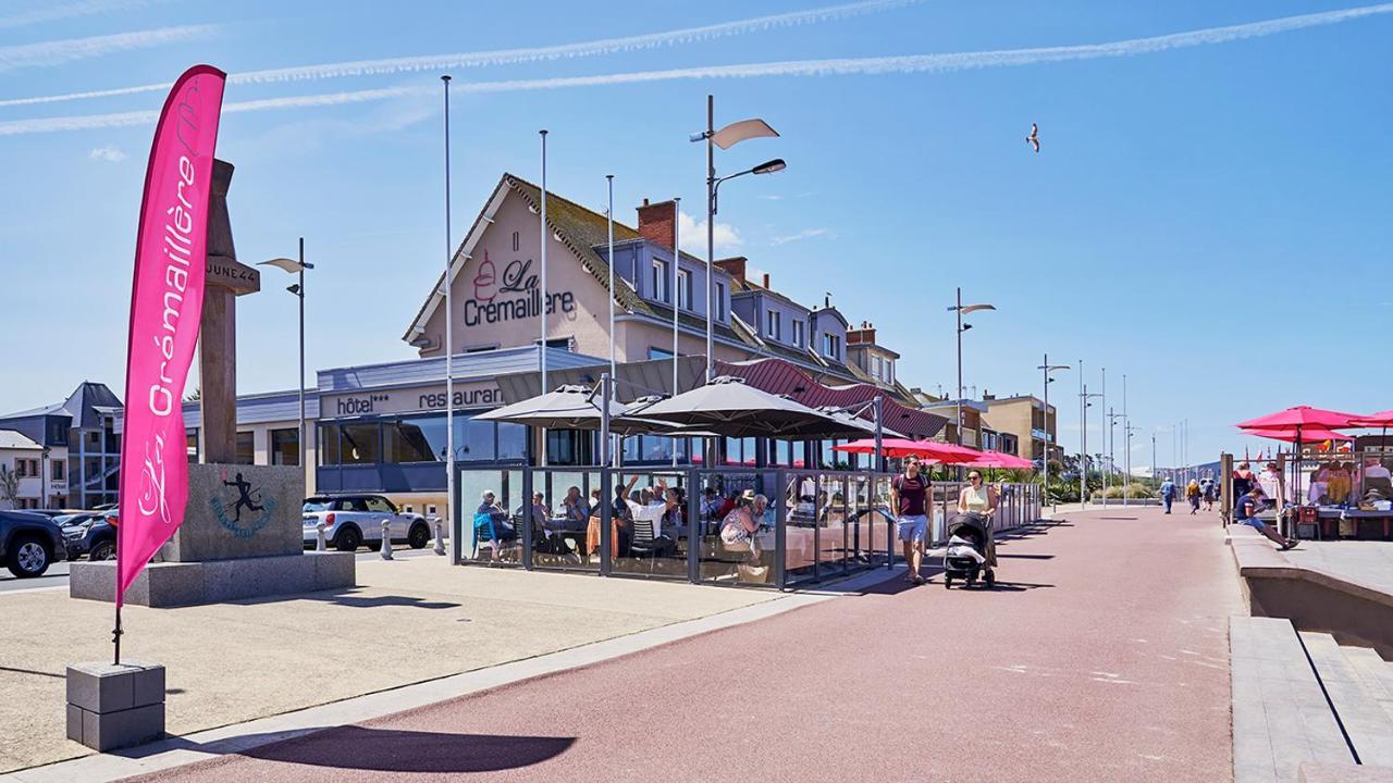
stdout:
[[[240,723],[779,599],[769,591],[358,563],[358,587],[181,609],[128,606],[123,658],[169,670],[171,734]],[[68,663],[109,660],[113,609],[0,594],[0,773],[86,755],[64,738]]]

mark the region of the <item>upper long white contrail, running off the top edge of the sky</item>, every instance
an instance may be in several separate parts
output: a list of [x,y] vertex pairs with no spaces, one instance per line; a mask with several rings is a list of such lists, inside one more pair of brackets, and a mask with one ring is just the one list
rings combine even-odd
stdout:
[[[372,77],[390,75],[415,71],[435,71],[440,68],[475,68],[485,65],[511,65],[517,63],[536,63],[547,60],[564,60],[571,57],[593,57],[598,54],[614,54],[621,52],[637,52],[656,49],[677,43],[691,43],[696,40],[710,40],[759,32],[775,28],[786,28],[805,24],[819,24],[846,20],[864,14],[873,14],[911,6],[919,0],[862,0],[844,6],[830,6],[826,8],[812,8],[808,11],[791,11],[752,20],[734,22],[720,22],[696,28],[674,29],[667,32],[653,32],[645,35],[631,35],[624,38],[606,38],[600,40],[586,40],[581,43],[561,43],[557,46],[540,46],[532,49],[500,49],[496,52],[467,52],[461,54],[428,54],[421,57],[391,57],[386,60],[355,60],[350,63],[327,63],[322,65],[299,65],[294,68],[272,68],[265,71],[245,71],[227,77],[230,84],[279,84],[294,81],[318,81],[344,77]],[[35,103],[57,103],[63,100],[81,100],[89,98],[111,98],[117,95],[135,95],[141,92],[163,92],[169,84],[153,84],[139,86],[124,86],[114,89],[98,89],[88,92],[70,92],[64,95],[45,95],[38,98],[14,98],[0,100],[3,106],[26,106]]]

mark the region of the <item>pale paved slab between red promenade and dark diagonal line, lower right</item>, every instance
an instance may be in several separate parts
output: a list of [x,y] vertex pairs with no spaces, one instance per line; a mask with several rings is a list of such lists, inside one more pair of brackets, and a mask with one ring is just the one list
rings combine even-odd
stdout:
[[1290,783],[1302,762],[1354,757],[1290,620],[1229,619],[1236,783]]

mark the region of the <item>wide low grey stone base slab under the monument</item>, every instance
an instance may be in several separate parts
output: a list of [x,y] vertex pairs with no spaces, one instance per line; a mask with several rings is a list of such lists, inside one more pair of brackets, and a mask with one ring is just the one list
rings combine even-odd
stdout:
[[[355,582],[354,566],[351,552],[150,563],[125,591],[125,602],[156,607],[194,606],[238,598],[348,588]],[[114,561],[77,561],[70,574],[71,598],[106,602],[116,599]]]

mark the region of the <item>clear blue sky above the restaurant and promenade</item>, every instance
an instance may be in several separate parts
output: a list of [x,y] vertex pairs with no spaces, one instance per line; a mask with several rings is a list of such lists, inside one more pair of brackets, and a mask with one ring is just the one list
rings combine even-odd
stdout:
[[[529,50],[830,6],[0,1],[0,410],[60,398],[82,379],[123,389],[152,123],[120,116],[155,110],[163,95],[7,100],[163,84],[196,61],[238,74]],[[456,226],[500,173],[536,178],[542,127],[556,192],[603,208],[613,173],[627,222],[645,196],[699,205],[705,153],[687,134],[713,92],[717,124],[758,114],[783,134],[720,153],[723,171],[788,162],[723,188],[719,223],[738,240],[723,251],[749,256],[805,302],[830,291],[904,354],[901,379],[931,392],[954,383],[944,307],[961,284],[965,300],[999,308],[965,336],[968,392],[1039,393],[1042,352],[1084,359],[1091,390],[1107,368],[1119,410],[1128,376],[1135,464],[1151,463],[1152,432],[1169,464],[1166,428],[1181,419],[1202,461],[1243,449],[1231,422],[1286,405],[1393,407],[1382,337],[1393,319],[1393,14],[1063,61],[978,54],[971,68],[861,61],[822,75],[467,85],[1098,45],[1353,7],[883,3],[653,46],[456,65]],[[228,104],[291,100],[227,113],[219,139],[219,156],[238,167],[238,256],[291,255],[305,235],[319,265],[311,368],[410,357],[400,336],[443,256],[442,68],[340,71],[228,85]],[[391,95],[344,95],[362,91]],[[301,96],[332,98],[301,106]],[[68,117],[96,118],[32,123]],[[1024,144],[1032,121],[1039,155]],[[72,124],[92,127],[61,130]],[[294,298],[276,277],[266,283],[240,302],[244,393],[295,383]],[[1066,449],[1077,450],[1077,397],[1060,400],[1077,393],[1077,371],[1060,378],[1052,401]],[[1095,415],[1095,437],[1100,426]]]

